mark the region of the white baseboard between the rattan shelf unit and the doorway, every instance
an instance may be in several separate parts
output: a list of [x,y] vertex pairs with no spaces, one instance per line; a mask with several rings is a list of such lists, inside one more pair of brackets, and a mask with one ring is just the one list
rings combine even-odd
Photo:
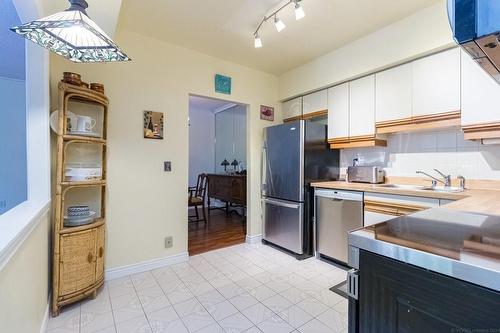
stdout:
[[105,280],[114,280],[127,275],[146,272],[152,269],[179,264],[189,260],[189,254],[182,252],[165,258],[158,258],[148,261],[139,262],[137,264],[126,265],[107,269],[105,272]]

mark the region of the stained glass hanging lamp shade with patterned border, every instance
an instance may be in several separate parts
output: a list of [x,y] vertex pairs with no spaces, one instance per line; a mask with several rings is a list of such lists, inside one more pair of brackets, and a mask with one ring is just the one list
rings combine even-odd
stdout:
[[73,62],[131,60],[85,12],[85,0],[70,0],[66,11],[11,30]]

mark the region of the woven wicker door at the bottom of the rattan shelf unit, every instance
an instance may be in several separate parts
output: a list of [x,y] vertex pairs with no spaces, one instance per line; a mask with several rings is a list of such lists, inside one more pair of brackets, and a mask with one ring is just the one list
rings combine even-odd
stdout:
[[59,295],[81,291],[96,281],[96,229],[61,237]]

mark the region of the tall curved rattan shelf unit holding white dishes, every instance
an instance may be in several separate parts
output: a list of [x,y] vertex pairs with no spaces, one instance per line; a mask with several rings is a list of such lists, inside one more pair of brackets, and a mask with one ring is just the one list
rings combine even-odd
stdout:
[[[74,135],[67,132],[68,105],[73,102],[102,112],[101,137]],[[59,83],[59,118],[53,228],[52,315],[62,306],[86,297],[96,297],[104,283],[105,195],[106,195],[106,136],[108,98],[99,92],[64,82]],[[65,166],[68,147],[74,143],[100,145],[101,179],[66,181]],[[65,200],[71,191],[95,188],[100,198],[100,215],[90,224],[64,226]]]

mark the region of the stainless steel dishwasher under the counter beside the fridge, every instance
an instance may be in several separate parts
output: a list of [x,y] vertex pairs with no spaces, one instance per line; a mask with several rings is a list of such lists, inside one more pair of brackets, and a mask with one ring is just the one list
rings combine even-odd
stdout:
[[316,254],[347,263],[347,233],[363,226],[363,192],[315,190]]

